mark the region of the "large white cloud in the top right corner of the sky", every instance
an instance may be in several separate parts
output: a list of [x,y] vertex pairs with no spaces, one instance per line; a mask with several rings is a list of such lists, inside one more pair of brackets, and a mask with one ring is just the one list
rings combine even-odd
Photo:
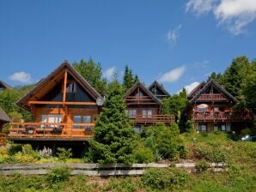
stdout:
[[246,31],[247,25],[256,19],[255,0],[189,0],[186,11],[197,15],[212,12],[219,25],[238,35]]

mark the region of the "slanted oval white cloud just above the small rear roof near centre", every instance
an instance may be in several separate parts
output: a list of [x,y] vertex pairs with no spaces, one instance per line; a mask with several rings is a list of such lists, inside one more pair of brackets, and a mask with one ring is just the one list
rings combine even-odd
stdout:
[[181,66],[179,68],[172,69],[172,70],[168,71],[167,73],[165,73],[164,75],[162,75],[162,77],[160,77],[159,81],[174,82],[174,81],[178,80],[181,75],[184,74],[185,69],[186,69],[185,66]]

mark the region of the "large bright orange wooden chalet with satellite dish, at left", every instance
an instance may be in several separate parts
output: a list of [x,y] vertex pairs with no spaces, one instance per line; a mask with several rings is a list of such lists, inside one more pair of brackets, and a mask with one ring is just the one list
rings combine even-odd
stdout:
[[[69,63],[62,63],[17,105],[34,115],[33,122],[10,123],[15,142],[82,142],[92,137],[101,111],[101,95]],[[98,103],[99,105],[97,105]]]

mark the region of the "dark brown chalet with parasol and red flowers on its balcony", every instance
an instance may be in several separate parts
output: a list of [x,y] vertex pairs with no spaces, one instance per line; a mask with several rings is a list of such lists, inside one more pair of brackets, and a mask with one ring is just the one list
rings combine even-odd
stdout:
[[199,84],[187,97],[188,116],[195,122],[198,131],[240,132],[253,121],[251,111],[232,111],[238,100],[213,79]]

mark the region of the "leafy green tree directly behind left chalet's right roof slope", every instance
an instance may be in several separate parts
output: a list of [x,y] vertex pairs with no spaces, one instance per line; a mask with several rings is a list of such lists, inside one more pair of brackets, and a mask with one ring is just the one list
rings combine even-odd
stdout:
[[100,63],[94,63],[93,59],[88,62],[81,59],[80,63],[73,63],[74,68],[102,95],[107,94],[107,79],[102,77]]

